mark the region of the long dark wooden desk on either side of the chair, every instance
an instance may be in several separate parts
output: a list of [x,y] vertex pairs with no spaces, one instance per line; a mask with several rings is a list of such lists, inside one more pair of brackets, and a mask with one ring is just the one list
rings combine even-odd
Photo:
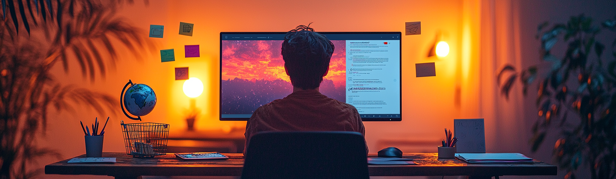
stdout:
[[[67,164],[66,159],[45,166],[46,174],[108,175],[135,179],[145,176],[240,176],[243,154],[225,154],[228,160],[184,161],[173,154],[139,159],[125,153],[103,153],[117,157],[115,164]],[[375,156],[374,154],[370,156]],[[78,156],[85,157],[85,154]],[[456,159],[438,159],[437,153],[404,154],[419,165],[368,165],[370,176],[456,176],[489,178],[503,175],[556,175],[556,166],[535,164],[466,164]]]

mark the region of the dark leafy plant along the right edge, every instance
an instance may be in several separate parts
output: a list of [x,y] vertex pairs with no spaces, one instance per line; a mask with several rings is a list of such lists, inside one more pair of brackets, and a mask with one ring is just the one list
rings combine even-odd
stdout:
[[[544,63],[551,63],[538,81],[538,120],[532,127],[532,151],[537,151],[549,131],[559,131],[553,156],[565,178],[577,178],[581,165],[590,169],[591,176],[582,178],[616,178],[616,39],[611,42],[612,56],[603,56],[606,45],[597,38],[601,30],[616,31],[616,20],[593,25],[590,17],[571,17],[567,23],[548,23],[538,26],[541,41],[540,55]],[[564,56],[553,54],[553,47],[562,39],[566,44]],[[498,74],[507,76],[501,93],[507,97],[519,79],[524,94],[538,77],[537,66],[520,73],[506,65]],[[518,76],[518,74],[520,74]],[[571,116],[573,114],[574,116]]]

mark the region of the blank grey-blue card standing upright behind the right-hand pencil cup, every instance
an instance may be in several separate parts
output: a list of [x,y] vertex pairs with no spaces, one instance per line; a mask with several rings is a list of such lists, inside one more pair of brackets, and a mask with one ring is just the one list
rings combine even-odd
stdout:
[[485,153],[484,119],[453,119],[456,153]]

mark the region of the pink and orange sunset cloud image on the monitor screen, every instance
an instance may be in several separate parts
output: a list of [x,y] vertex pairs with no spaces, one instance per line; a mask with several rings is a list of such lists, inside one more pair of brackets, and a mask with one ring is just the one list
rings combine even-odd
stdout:
[[[259,106],[293,92],[280,55],[283,41],[222,41],[222,114],[252,114]],[[330,71],[319,90],[345,101],[346,44],[331,41]]]

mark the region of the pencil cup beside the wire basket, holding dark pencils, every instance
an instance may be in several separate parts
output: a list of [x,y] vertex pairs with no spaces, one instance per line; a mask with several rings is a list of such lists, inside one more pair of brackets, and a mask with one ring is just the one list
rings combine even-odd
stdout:
[[109,122],[109,117],[107,117],[107,122],[103,125],[103,129],[99,130],[99,119],[96,118],[94,124],[92,124],[92,133],[90,133],[89,127],[83,127],[83,122],[81,123],[81,129],[83,130],[84,137],[86,138],[86,157],[102,157],[103,156],[103,134],[105,134],[105,127],[107,127],[107,122]]

